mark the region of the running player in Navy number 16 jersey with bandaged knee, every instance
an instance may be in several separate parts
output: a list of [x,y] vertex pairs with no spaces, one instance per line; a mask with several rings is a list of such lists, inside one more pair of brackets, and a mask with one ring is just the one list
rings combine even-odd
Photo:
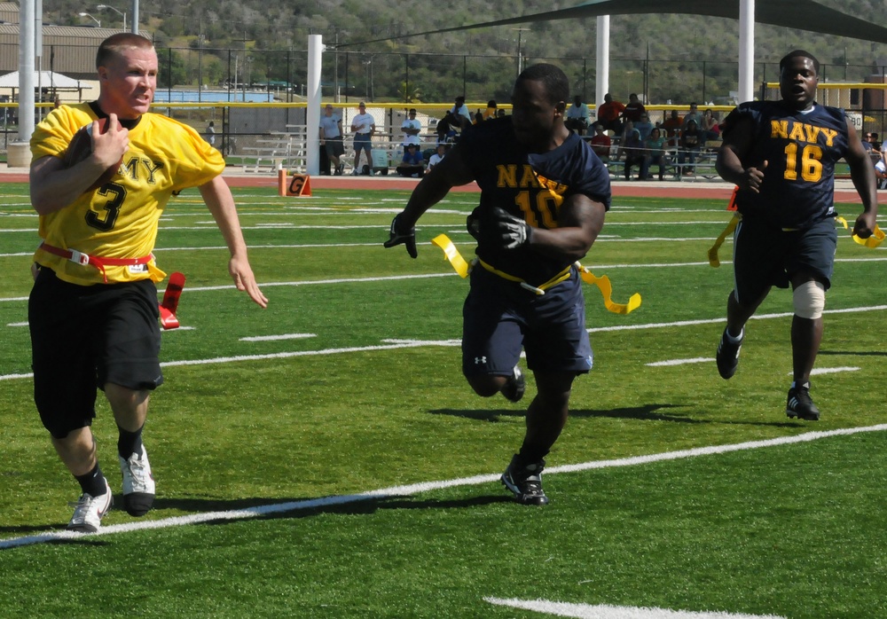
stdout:
[[875,171],[856,131],[835,107],[816,104],[820,63],[806,51],[780,61],[780,101],[743,103],[724,122],[718,173],[737,184],[742,221],[734,233],[735,287],[727,299],[718,372],[739,364],[745,324],[772,286],[792,287],[792,370],[786,414],[820,419],[810,373],[822,340],[822,311],[835,264],[835,163],[850,164],[862,213],[853,233],[875,230]]

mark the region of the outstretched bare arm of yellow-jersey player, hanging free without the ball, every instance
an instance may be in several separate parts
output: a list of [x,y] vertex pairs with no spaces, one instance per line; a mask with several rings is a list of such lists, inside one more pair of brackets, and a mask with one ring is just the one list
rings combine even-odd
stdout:
[[231,273],[235,286],[238,290],[246,291],[249,298],[258,305],[263,308],[268,307],[268,299],[259,290],[253,270],[249,266],[247,243],[243,239],[243,232],[240,231],[237,208],[234,206],[234,197],[228,184],[224,182],[222,176],[216,176],[207,184],[200,185],[200,195],[207,203],[209,212],[212,213],[219,230],[222,231],[228,251],[231,252],[228,272]]

